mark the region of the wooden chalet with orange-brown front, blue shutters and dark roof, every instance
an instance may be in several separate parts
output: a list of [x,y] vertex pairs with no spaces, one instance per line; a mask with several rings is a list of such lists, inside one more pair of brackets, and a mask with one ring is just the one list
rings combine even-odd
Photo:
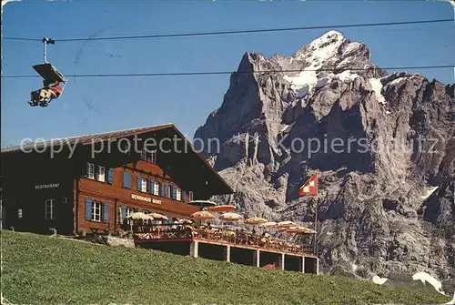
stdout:
[[2,227],[41,234],[116,231],[133,210],[172,221],[233,192],[172,124],[9,147],[1,162]]

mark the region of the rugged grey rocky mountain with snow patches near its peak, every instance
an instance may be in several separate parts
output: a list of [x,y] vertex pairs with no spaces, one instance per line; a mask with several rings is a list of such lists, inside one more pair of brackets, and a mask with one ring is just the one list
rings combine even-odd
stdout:
[[[436,234],[434,221],[453,209],[449,201],[429,208],[439,201],[427,200],[455,178],[454,86],[387,74],[370,54],[336,31],[292,56],[246,53],[221,107],[195,134],[236,190],[214,199],[247,216],[309,226],[318,207],[327,268],[355,264],[364,266],[363,276],[408,269],[455,278],[455,236]],[[214,138],[219,150],[207,145]],[[298,197],[315,173],[319,197]],[[453,200],[453,192],[438,194]]]

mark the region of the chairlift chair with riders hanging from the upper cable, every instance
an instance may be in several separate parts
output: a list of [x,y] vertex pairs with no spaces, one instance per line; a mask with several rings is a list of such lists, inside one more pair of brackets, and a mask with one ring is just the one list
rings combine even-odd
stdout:
[[[29,104],[31,106],[39,105],[41,107],[47,107],[52,99],[56,99],[56,98],[62,97],[63,91],[65,90],[65,87],[66,87],[67,79],[66,79],[66,77],[63,74],[61,74],[56,69],[55,66],[52,66],[52,64],[50,64],[46,60],[46,46],[47,46],[47,44],[54,45],[56,43],[56,41],[54,39],[52,39],[52,38],[43,38],[42,41],[43,41],[43,44],[44,44],[44,47],[45,47],[45,49],[44,49],[45,63],[44,64],[39,64],[39,65],[35,65],[35,66],[32,66],[32,67],[36,71],[37,74],[39,74],[41,77],[43,77],[44,84],[47,84],[47,86],[51,85],[51,84],[55,84],[56,81],[58,81],[59,83],[63,83],[62,91],[61,91],[61,93],[60,93],[60,95],[58,97],[51,97],[49,100],[45,100],[45,101],[37,101],[37,100],[33,100],[33,98],[32,98],[32,101],[29,102]],[[37,91],[39,93],[40,90],[37,90]]]

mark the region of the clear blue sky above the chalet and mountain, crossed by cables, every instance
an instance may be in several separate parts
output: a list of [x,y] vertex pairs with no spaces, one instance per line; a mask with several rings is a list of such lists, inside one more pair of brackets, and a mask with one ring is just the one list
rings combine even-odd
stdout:
[[[25,0],[4,7],[4,36],[85,38],[453,18],[445,2],[421,1],[75,1]],[[337,28],[333,28],[337,30]],[[245,52],[291,55],[329,29],[232,36],[57,42],[47,59],[63,74],[234,71]],[[379,66],[455,62],[455,21],[343,28]],[[3,41],[3,75],[34,75],[39,42]],[[453,68],[410,70],[453,83]],[[23,138],[71,137],[174,123],[188,137],[219,107],[229,76],[69,77],[47,108],[27,104],[41,78],[2,79],[2,147]]]

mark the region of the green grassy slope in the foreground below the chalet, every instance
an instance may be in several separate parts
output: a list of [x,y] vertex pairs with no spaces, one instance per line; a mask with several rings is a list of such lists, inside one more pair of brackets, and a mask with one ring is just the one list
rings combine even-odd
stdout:
[[443,303],[366,281],[266,270],[148,249],[2,231],[2,292],[22,303]]

